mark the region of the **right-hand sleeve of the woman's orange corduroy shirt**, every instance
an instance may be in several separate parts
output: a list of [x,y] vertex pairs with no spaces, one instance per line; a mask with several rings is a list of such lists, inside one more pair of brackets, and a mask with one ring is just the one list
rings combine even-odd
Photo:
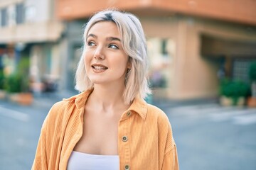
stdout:
[[178,154],[176,144],[174,147],[164,154],[164,162],[161,170],[178,170]]

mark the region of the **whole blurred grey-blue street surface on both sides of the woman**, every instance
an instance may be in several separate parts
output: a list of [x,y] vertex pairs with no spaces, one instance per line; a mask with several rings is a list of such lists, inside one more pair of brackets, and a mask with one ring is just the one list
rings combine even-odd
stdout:
[[[50,102],[18,106],[0,101],[0,169],[31,169]],[[256,169],[256,108],[159,107],[171,121],[181,170]]]

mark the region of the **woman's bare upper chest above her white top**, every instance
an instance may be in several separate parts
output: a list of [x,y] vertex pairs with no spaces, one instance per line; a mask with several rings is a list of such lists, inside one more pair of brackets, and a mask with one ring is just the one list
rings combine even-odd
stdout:
[[85,114],[82,137],[75,150],[89,154],[118,154],[118,118]]

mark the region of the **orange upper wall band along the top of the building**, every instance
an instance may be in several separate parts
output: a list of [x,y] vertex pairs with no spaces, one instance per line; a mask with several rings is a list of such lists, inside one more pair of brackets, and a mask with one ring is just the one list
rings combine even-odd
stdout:
[[255,0],[56,0],[56,2],[57,16],[62,19],[85,18],[95,11],[115,7],[132,11],[139,16],[151,14],[166,16],[178,13],[256,25]]

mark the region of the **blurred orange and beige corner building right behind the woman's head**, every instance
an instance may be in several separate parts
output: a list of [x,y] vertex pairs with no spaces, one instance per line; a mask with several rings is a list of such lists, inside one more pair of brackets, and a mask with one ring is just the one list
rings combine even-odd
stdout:
[[75,58],[79,56],[75,49],[80,47],[82,26],[92,13],[114,7],[139,16],[148,41],[150,76],[158,91],[156,97],[218,96],[219,78],[224,72],[233,79],[248,81],[248,65],[256,60],[256,1],[253,0],[56,0],[56,3],[58,18],[68,22],[70,31],[77,30],[78,40],[68,45],[73,52],[66,53],[74,54]]

